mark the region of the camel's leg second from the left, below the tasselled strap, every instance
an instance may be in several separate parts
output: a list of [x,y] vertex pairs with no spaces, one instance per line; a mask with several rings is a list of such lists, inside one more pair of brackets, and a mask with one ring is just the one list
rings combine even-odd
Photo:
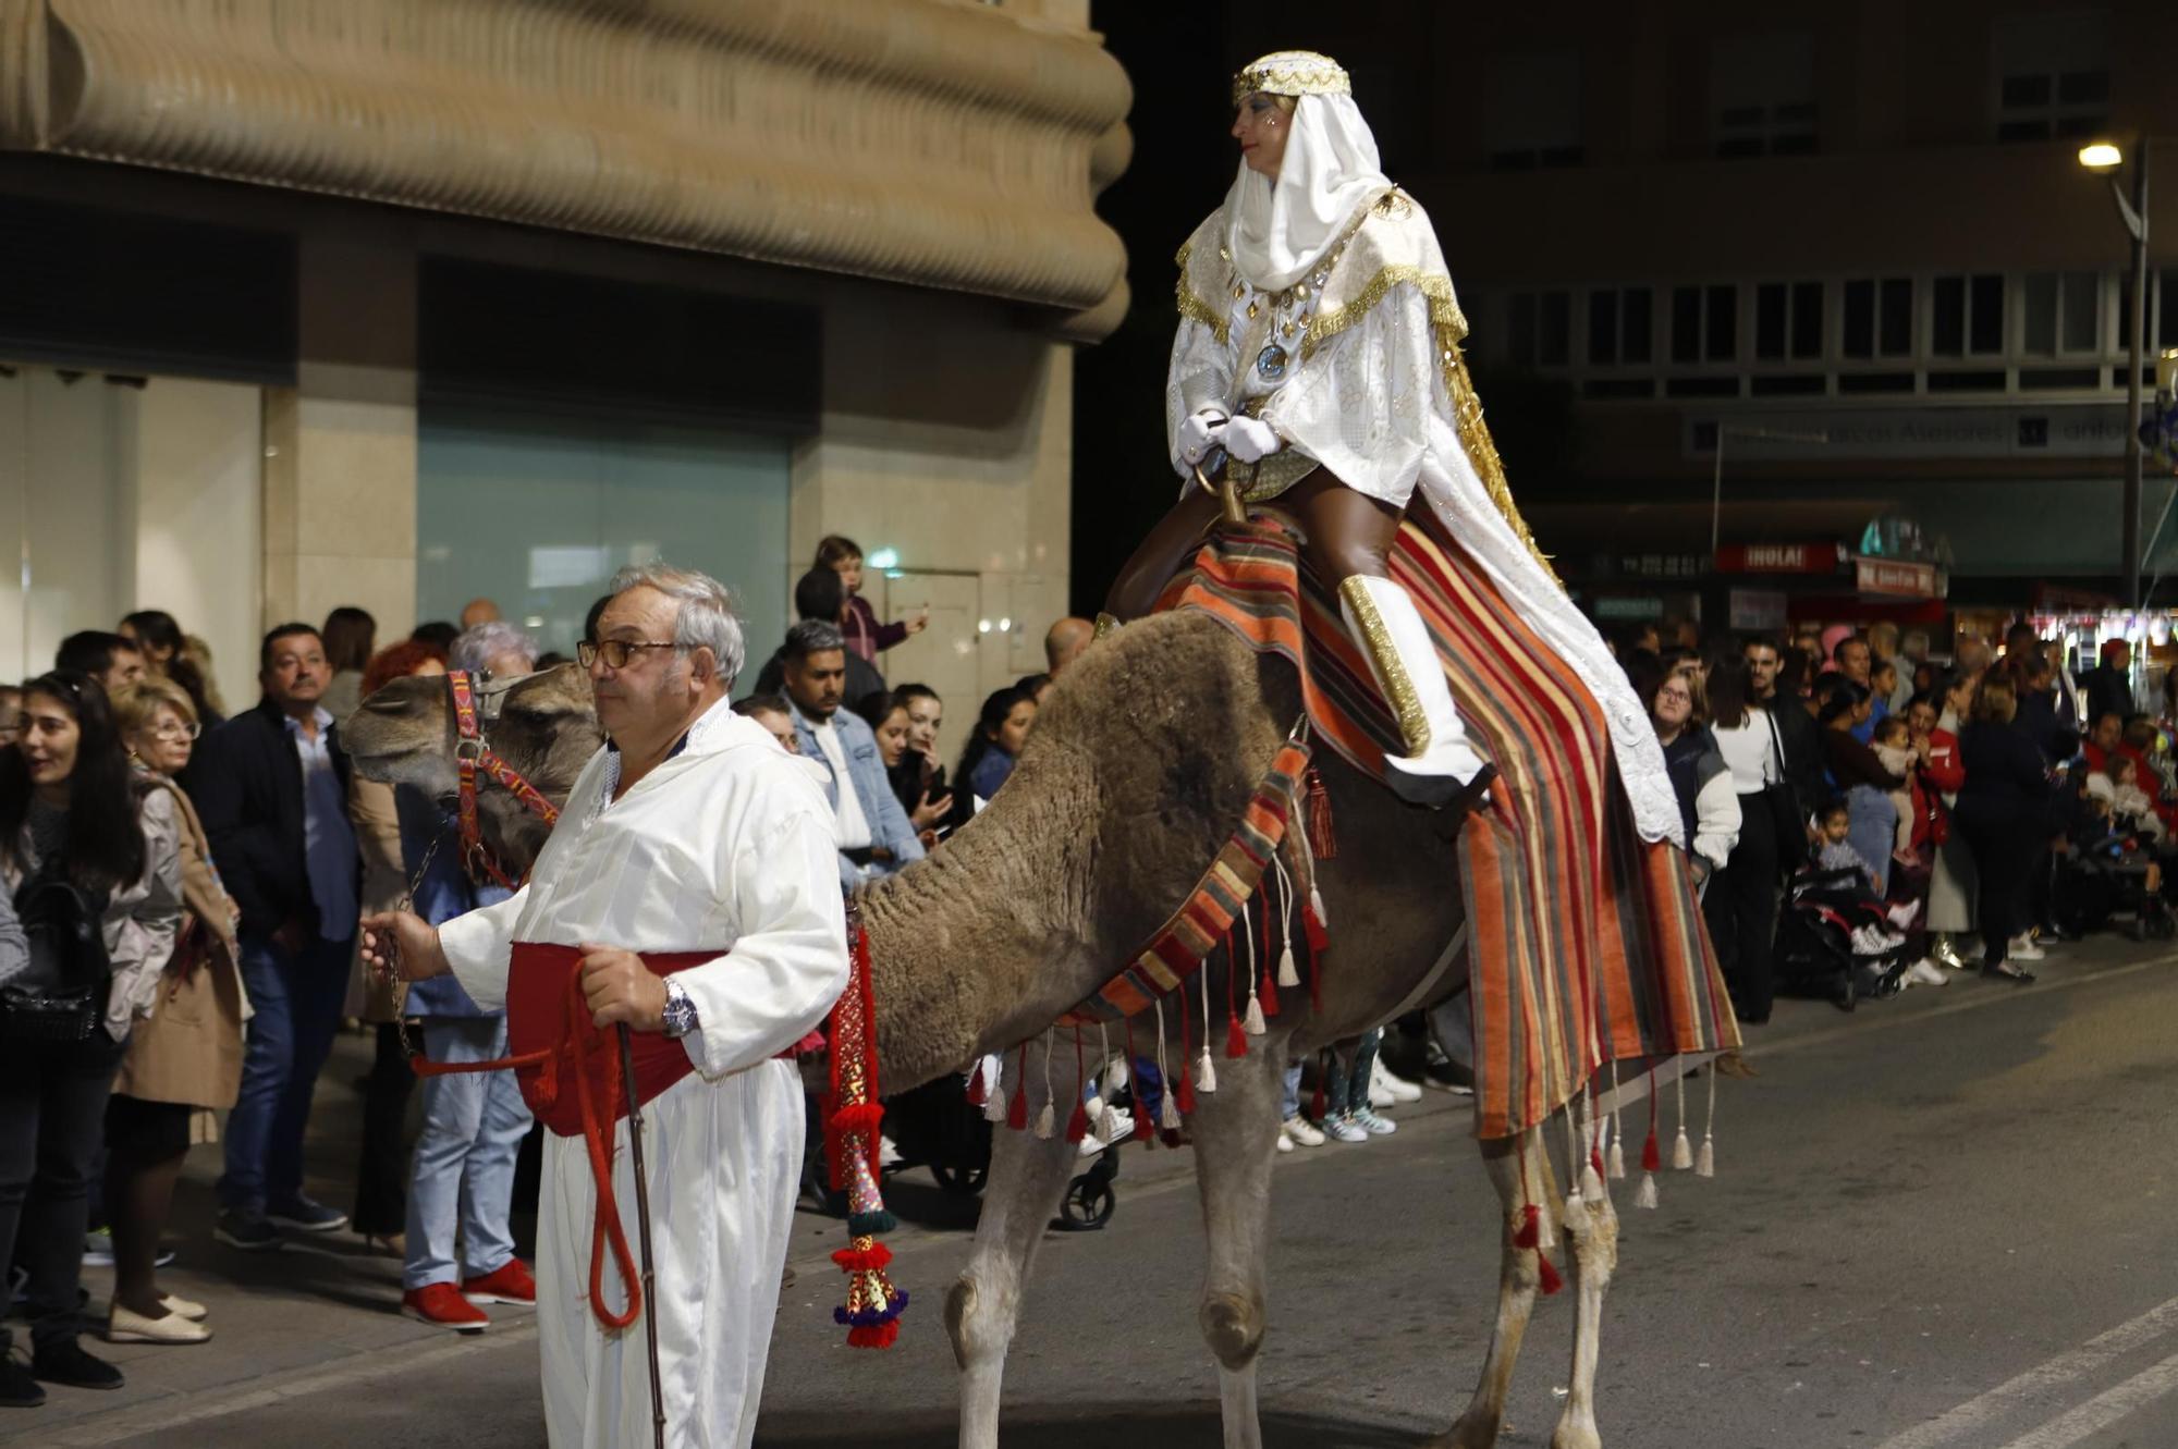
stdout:
[[1218,1057],[1218,1090],[1196,1092],[1196,1144],[1209,1271],[1196,1323],[1218,1358],[1224,1449],[1261,1449],[1255,1360],[1263,1349],[1263,1275],[1270,1255],[1270,1164],[1278,1153],[1285,1051],[1255,1038],[1246,1057]]

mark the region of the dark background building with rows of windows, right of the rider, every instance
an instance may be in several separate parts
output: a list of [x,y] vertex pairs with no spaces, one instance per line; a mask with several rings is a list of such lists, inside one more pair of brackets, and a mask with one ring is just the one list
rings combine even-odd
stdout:
[[[1342,33],[1270,4],[1248,30],[1348,61],[1575,585],[1708,579],[1716,607],[1718,544],[1832,544],[1925,561],[1958,603],[2115,594],[2130,237],[2076,152],[2171,137],[2154,359],[2178,346],[2165,7],[1411,4]],[[2143,537],[2169,496],[2150,472]],[[2143,577],[2171,566],[2178,524]]]

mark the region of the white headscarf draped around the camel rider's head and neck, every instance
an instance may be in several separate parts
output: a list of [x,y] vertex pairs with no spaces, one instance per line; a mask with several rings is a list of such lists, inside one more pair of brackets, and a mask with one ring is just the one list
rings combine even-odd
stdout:
[[1376,137],[1353,96],[1298,96],[1285,161],[1272,183],[1241,159],[1226,191],[1226,250],[1259,292],[1309,274],[1370,198],[1390,187]]

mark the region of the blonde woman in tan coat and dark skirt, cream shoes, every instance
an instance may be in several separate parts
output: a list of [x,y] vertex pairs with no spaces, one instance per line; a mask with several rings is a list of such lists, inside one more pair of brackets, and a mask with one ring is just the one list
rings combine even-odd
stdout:
[[107,1105],[107,1212],[113,1218],[109,1342],[203,1342],[205,1305],[159,1292],[152,1264],[194,1142],[218,1138],[216,1107],[242,1083],[248,1001],[235,957],[240,912],[220,886],[205,827],[174,785],[198,735],[196,705],[172,679],[146,677],[113,696],[113,722],[148,790],[163,790],[181,825],[181,896],[187,914],[159,975],[150,1020],[129,1036],[129,1055]]

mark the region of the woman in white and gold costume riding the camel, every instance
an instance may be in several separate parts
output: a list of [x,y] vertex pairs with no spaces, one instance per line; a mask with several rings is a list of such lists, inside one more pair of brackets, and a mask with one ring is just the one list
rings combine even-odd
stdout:
[[1483,770],[1420,611],[1390,577],[1416,490],[1505,605],[1603,705],[1644,840],[1681,840],[1647,711],[1512,505],[1459,357],[1466,318],[1429,218],[1379,170],[1335,61],[1281,50],[1233,78],[1239,172],[1180,248],[1180,324],[1165,387],[1178,505],[1106,598],[1100,631],[1150,614],[1220,516],[1198,487],[1220,455],[1246,503],[1307,537],[1407,744],[1409,801],[1442,805]]

